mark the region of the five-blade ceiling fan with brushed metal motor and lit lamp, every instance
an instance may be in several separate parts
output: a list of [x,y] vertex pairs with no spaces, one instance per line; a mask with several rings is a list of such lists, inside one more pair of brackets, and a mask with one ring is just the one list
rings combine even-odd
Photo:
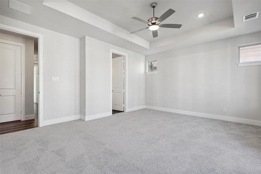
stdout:
[[157,6],[157,3],[156,2],[151,3],[150,6],[153,8],[153,17],[148,19],[148,21],[138,18],[136,16],[132,17],[132,19],[135,19],[137,21],[148,24],[148,27],[136,30],[134,32],[130,32],[130,34],[133,34],[133,33],[136,33],[136,32],[149,28],[150,30],[152,30],[152,36],[154,38],[154,37],[158,37],[157,30],[159,27],[161,27],[161,28],[180,28],[182,26],[181,24],[160,24],[162,21],[164,21],[165,19],[170,17],[171,14],[175,13],[175,10],[169,9],[160,17],[154,17],[154,8]]

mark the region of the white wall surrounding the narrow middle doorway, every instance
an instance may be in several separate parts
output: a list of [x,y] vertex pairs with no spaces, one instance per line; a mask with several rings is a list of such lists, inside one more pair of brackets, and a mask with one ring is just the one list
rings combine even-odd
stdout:
[[127,110],[145,104],[145,56],[86,37],[86,116],[110,112],[110,49],[128,54]]

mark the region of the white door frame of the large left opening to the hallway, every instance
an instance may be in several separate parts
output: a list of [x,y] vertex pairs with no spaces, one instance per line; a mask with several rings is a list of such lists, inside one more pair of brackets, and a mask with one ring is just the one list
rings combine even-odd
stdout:
[[[41,127],[41,126],[43,126],[43,35],[35,33],[35,32],[31,32],[31,31],[23,30],[20,28],[4,25],[1,23],[0,23],[0,29],[38,38],[38,64],[39,64],[39,70],[38,70],[38,73],[39,73],[39,76],[38,76],[38,80],[39,80],[39,82],[38,82],[39,83],[38,127]],[[25,113],[25,112],[22,111],[22,113]]]

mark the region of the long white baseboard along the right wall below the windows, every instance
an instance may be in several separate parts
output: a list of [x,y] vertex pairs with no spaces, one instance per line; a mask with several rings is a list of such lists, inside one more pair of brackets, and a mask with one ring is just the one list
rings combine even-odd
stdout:
[[156,106],[145,106],[145,107],[147,109],[161,110],[161,111],[171,112],[171,113],[192,115],[192,116],[197,116],[197,117],[205,117],[205,118],[212,118],[212,119],[224,120],[224,121],[229,121],[229,122],[236,122],[236,123],[243,123],[243,124],[251,124],[251,125],[255,125],[255,126],[261,126],[261,121],[258,121],[258,120],[228,117],[228,116],[206,114],[206,113],[198,113],[198,112],[192,112],[192,111],[186,111],[186,110],[160,108],[160,107],[156,107]]

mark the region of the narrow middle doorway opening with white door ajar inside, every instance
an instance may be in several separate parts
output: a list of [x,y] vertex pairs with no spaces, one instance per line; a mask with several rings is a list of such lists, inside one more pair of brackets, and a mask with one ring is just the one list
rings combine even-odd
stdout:
[[125,111],[125,56],[112,52],[112,114]]

